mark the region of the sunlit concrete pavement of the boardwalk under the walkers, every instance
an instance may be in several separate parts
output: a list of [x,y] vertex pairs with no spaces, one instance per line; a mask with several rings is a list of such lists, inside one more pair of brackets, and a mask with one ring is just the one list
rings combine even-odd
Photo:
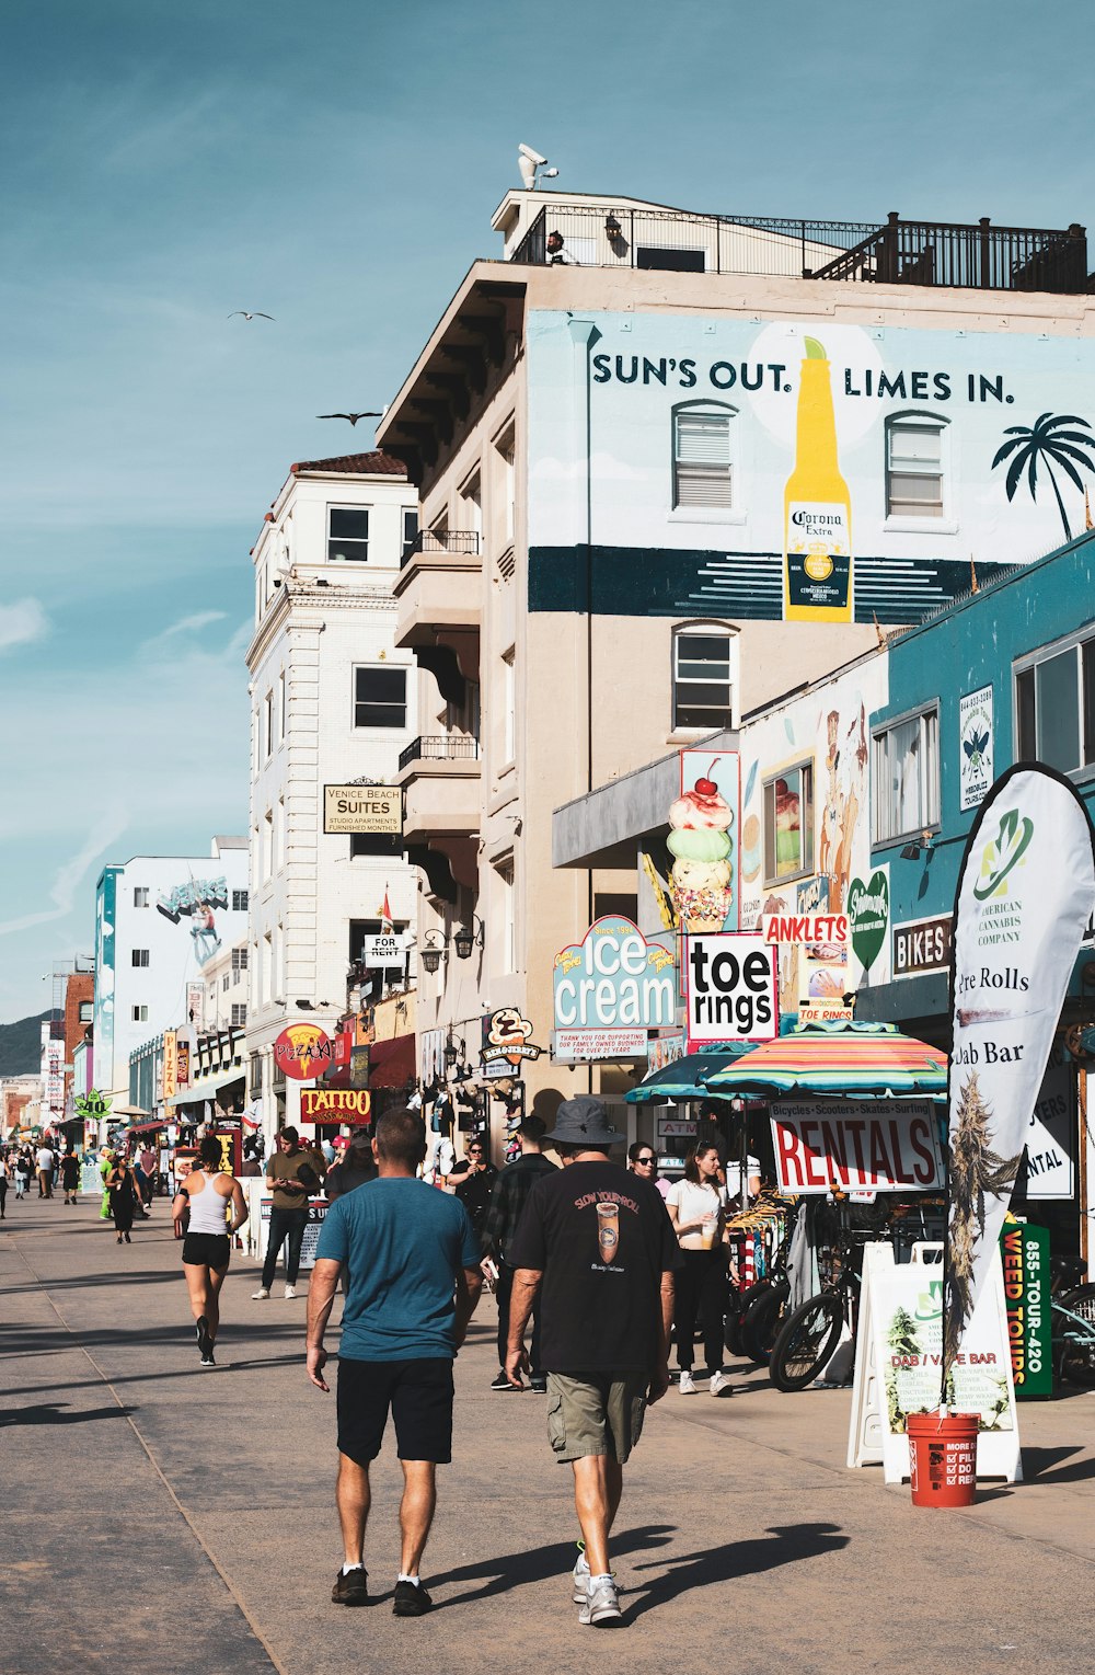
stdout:
[[780,1395],[737,1365],[730,1400],[673,1390],[650,1414],[613,1546],[625,1626],[578,1628],[571,1476],[549,1457],[542,1397],[487,1389],[491,1298],[457,1362],[455,1459],[424,1564],[439,1610],[392,1616],[392,1439],[373,1474],[378,1603],[333,1606],[333,1397],[303,1374],[303,1288],[253,1303],[254,1286],[236,1256],[219,1365],[201,1372],[162,1201],[119,1248],[97,1203],[8,1194],[5,1675],[539,1675],[571,1658],[598,1675],[981,1675],[1087,1662],[1095,1395],[1025,1404],[1028,1482],[933,1513],[879,1469],[846,1471],[849,1392]]

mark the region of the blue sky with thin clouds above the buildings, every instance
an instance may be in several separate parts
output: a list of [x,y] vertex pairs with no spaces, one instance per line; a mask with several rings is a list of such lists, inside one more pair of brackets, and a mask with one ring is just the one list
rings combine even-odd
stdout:
[[519,141],[688,209],[1095,221],[1082,0],[7,0],[0,54],[0,1022],[107,861],[246,832],[263,513],[372,446],[315,414],[393,397]]

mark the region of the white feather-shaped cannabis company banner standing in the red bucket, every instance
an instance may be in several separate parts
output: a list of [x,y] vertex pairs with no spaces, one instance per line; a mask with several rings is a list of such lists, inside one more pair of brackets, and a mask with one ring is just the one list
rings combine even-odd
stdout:
[[981,804],[954,901],[944,1375],[996,1251],[1093,903],[1083,802],[1051,769],[1016,764]]

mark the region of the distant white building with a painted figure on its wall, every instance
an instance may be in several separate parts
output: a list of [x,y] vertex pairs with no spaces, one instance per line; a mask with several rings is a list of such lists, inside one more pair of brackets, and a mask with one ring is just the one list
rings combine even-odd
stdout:
[[95,1085],[129,1100],[129,1064],[186,1017],[204,966],[246,935],[248,841],[214,838],[209,856],[134,856],[95,888]]

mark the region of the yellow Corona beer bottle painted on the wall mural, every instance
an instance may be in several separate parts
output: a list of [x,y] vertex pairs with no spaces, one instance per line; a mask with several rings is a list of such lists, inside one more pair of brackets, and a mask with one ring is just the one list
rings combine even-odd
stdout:
[[852,620],[852,501],[837,464],[829,360],[804,338],[795,469],[784,489],[784,616]]

